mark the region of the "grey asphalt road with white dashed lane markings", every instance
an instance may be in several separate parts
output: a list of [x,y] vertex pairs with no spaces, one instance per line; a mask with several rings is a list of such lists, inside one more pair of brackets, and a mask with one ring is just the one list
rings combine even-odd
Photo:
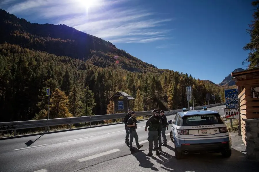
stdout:
[[[224,116],[224,108],[225,105],[208,110],[215,110]],[[173,119],[174,115],[167,116],[167,120]],[[0,140],[0,172],[107,172],[150,171],[150,169],[200,172],[201,169],[206,171],[205,167],[210,165],[213,165],[216,170],[216,166],[220,163],[228,164],[229,168],[234,161],[235,165],[241,164],[236,161],[239,161],[239,158],[242,159],[243,155],[239,155],[240,152],[237,151],[230,159],[224,161],[221,156],[211,159],[198,157],[188,161],[187,166],[186,160],[177,161],[176,165],[172,142],[168,143],[168,147],[163,147],[167,153],[160,159],[155,155],[153,158],[145,157],[144,153],[148,149],[147,132],[144,131],[145,124],[146,120],[137,123],[139,142],[144,145],[141,149],[144,152],[137,153],[131,153],[125,144],[124,124]],[[167,140],[170,141],[170,130],[167,130],[166,133]],[[28,144],[29,140],[31,140],[31,145],[27,146],[26,143]],[[196,163],[198,164],[195,165]],[[170,167],[170,165],[174,167]]]

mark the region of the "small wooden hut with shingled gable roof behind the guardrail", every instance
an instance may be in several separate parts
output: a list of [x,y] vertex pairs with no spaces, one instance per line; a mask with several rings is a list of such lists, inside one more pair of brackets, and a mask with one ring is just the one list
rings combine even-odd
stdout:
[[132,96],[123,91],[115,93],[108,101],[113,101],[113,113],[115,112],[127,112],[129,107],[129,101],[135,100]]

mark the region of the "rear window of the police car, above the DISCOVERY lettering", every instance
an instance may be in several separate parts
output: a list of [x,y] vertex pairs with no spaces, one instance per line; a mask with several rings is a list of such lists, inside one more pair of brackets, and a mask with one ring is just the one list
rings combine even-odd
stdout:
[[183,118],[183,126],[199,126],[211,124],[224,124],[219,114],[202,114],[185,116]]

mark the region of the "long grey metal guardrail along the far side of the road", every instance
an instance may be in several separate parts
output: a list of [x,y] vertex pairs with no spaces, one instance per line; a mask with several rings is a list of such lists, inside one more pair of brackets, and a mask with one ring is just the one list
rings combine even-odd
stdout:
[[[217,103],[206,105],[209,107],[225,105],[226,103]],[[202,109],[203,106],[194,107],[195,110]],[[189,108],[187,108],[189,110]],[[165,111],[165,115],[173,115],[177,112],[181,112],[182,109],[170,110]],[[0,131],[7,131],[7,130],[14,130],[14,135],[16,135],[16,130],[26,129],[26,128],[39,128],[45,127],[45,131],[48,126],[58,126],[64,124],[78,124],[83,122],[89,122],[91,127],[91,122],[103,121],[106,120],[106,124],[108,124],[108,120],[113,119],[121,119],[124,118],[126,113],[120,114],[107,114],[107,115],[95,115],[95,116],[81,116],[81,117],[71,117],[71,118],[55,118],[55,119],[46,119],[46,120],[30,120],[30,121],[14,121],[14,122],[0,122]],[[143,112],[136,112],[136,116],[147,116],[151,115],[152,111],[143,111]]]

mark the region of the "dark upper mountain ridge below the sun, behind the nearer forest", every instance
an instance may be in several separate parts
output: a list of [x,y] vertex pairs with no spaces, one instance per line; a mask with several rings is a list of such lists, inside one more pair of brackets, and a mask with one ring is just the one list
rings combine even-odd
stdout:
[[0,9],[0,26],[0,44],[17,44],[22,48],[89,61],[99,67],[119,67],[142,73],[157,71],[157,67],[116,48],[111,42],[66,25],[32,24]]

